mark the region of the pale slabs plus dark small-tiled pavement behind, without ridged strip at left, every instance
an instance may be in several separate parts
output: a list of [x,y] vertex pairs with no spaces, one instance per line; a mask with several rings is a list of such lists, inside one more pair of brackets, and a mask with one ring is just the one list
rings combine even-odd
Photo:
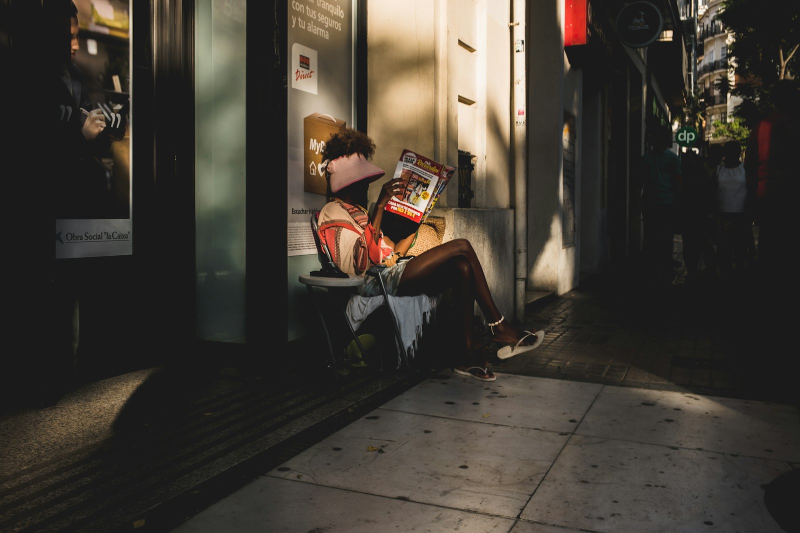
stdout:
[[800,531],[796,388],[747,290],[543,297],[494,383],[431,376],[173,531]]

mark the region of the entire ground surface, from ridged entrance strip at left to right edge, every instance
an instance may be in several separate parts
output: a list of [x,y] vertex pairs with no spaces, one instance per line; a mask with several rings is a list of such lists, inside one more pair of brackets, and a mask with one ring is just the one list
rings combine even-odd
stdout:
[[86,384],[0,416],[0,531],[798,531],[793,316],[750,292],[582,280],[494,383],[301,351]]

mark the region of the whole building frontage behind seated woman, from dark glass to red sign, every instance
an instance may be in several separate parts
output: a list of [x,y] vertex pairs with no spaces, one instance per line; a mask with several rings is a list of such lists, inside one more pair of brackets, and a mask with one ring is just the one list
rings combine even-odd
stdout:
[[[90,0],[76,3],[99,13]],[[313,336],[298,282],[318,268],[308,213],[325,201],[299,177],[312,113],[366,131],[388,175],[402,149],[470,167],[470,181],[449,185],[434,215],[446,219],[446,238],[470,238],[506,316],[522,316],[530,291],[564,294],[585,273],[626,272],[637,261],[646,129],[672,125],[686,103],[681,0],[111,4],[130,21],[114,43],[130,46],[132,251],[54,260],[47,205],[18,213],[38,213],[36,233],[49,237],[26,256],[40,267],[26,276],[42,295],[25,303],[34,316],[26,323],[67,308],[46,316],[61,329],[59,347],[44,350],[72,358],[66,373],[87,360],[119,368],[106,352],[124,352],[129,366],[162,352],[258,358],[284,345],[284,322],[288,344]],[[12,11],[5,21],[27,20],[56,5],[2,9]],[[25,78],[53,52],[26,46],[38,41],[21,28],[0,28],[2,58],[19,57]],[[102,45],[105,30],[90,31]],[[87,44],[78,61],[90,59]],[[90,78],[110,82],[98,69]],[[276,226],[284,179],[286,223]],[[374,201],[377,187],[371,193]],[[274,242],[284,228],[278,287]],[[94,283],[109,272],[114,290]]]

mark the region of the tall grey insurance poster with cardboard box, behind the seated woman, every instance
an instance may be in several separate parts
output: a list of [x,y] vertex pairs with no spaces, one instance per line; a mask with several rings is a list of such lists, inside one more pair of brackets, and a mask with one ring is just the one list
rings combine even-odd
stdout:
[[290,0],[287,10],[287,255],[316,253],[309,218],[326,202],[319,171],[331,133],[354,127],[354,1]]

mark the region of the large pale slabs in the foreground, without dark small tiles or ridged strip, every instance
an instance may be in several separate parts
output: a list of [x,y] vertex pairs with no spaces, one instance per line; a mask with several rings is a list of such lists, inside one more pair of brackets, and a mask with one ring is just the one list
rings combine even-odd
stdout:
[[798,468],[790,405],[448,371],[174,532],[797,531]]

